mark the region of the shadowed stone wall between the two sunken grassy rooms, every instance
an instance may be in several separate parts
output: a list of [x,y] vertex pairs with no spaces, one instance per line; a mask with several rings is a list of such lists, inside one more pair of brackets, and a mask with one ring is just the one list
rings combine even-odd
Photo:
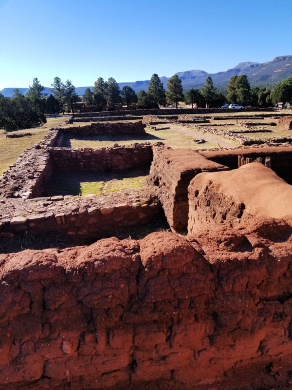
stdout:
[[150,167],[153,159],[150,143],[101,149],[49,148],[48,151],[57,169],[109,172]]

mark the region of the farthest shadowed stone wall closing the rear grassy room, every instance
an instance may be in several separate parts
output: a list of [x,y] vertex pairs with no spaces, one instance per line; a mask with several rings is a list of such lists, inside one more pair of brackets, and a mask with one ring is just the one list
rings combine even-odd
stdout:
[[132,134],[132,135],[144,135],[146,134],[144,125],[142,121],[135,123],[91,123],[86,126],[70,126],[62,127],[58,130],[62,130],[63,133],[73,133],[73,134]]

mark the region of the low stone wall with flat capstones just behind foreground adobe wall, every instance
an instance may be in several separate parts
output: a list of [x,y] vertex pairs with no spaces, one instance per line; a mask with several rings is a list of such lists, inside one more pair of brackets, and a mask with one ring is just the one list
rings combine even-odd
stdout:
[[149,189],[15,202],[6,200],[0,204],[2,238],[45,232],[61,232],[86,239],[102,238],[116,234],[119,228],[146,224],[162,214],[156,194]]

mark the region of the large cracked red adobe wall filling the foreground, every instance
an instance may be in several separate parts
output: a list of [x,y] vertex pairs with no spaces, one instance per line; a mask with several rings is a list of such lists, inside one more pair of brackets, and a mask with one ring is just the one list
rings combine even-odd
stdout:
[[290,389],[291,222],[0,255],[0,387]]

